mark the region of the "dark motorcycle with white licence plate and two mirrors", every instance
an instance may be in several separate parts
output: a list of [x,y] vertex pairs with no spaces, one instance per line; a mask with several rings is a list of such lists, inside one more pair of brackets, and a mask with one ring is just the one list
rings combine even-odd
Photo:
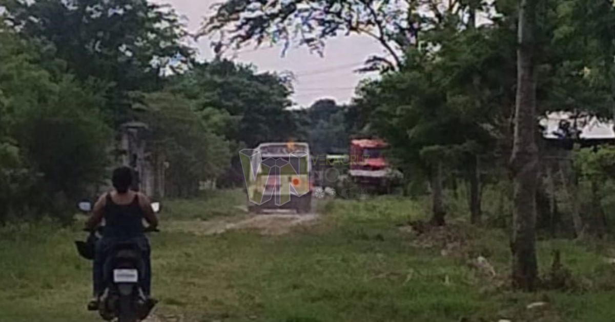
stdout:
[[[84,213],[92,211],[92,204],[84,201],[77,205]],[[153,202],[154,212],[161,210],[159,202]],[[75,242],[77,251],[85,259],[93,260],[95,245],[101,237],[103,226],[88,231],[85,241]],[[144,228],[144,232],[158,232],[158,229]],[[106,321],[137,322],[145,320],[155,302],[148,299],[139,285],[144,277],[145,262],[142,250],[136,242],[117,242],[105,250],[103,276],[105,290],[98,301],[98,313]],[[96,310],[90,308],[90,310]]]

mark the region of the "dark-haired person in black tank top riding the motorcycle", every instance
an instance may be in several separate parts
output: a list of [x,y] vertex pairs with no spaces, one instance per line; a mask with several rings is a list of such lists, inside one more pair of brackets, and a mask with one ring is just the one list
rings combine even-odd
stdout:
[[100,196],[93,207],[92,216],[85,223],[89,231],[97,229],[101,221],[105,220],[102,228],[102,237],[96,243],[95,258],[92,270],[93,299],[88,303],[90,310],[98,309],[98,301],[105,290],[104,265],[105,251],[117,242],[132,241],[141,249],[145,272],[140,281],[141,288],[148,297],[150,305],[155,300],[150,297],[151,292],[151,249],[149,241],[144,234],[143,220],[149,224],[148,229],[156,229],[158,218],[151,207],[151,202],[145,194],[130,190],[133,183],[132,170],[129,167],[118,167],[111,177],[114,190]]

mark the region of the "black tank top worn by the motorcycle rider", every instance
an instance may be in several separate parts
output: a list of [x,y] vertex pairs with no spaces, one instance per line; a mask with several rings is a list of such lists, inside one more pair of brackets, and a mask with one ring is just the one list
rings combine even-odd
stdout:
[[129,239],[143,236],[143,218],[145,213],[139,204],[139,197],[135,194],[130,204],[119,205],[107,194],[105,204],[105,229],[103,237]]

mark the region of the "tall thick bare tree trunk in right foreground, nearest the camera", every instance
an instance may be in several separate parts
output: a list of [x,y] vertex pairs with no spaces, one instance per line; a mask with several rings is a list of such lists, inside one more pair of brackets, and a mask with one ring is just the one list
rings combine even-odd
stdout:
[[536,132],[536,69],[534,28],[538,0],[521,0],[517,50],[517,104],[515,135],[510,158],[514,175],[512,285],[525,291],[536,289],[536,183],[538,147]]

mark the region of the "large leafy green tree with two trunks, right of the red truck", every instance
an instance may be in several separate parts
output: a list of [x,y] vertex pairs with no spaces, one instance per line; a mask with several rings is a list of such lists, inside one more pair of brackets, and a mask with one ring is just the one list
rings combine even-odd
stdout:
[[435,223],[443,223],[445,212],[443,167],[468,174],[472,220],[480,221],[477,160],[495,148],[494,129],[510,95],[510,79],[501,75],[509,70],[506,49],[512,45],[495,45],[506,39],[499,36],[489,26],[432,34],[442,42],[437,49],[408,50],[399,72],[364,85],[355,101],[371,128],[392,145],[404,172],[418,180],[419,170],[429,176]]

